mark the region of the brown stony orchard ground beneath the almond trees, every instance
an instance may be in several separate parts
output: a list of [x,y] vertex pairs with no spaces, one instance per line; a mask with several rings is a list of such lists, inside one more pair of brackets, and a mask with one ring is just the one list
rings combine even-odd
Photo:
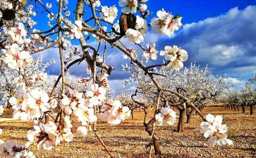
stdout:
[[[177,129],[177,123],[171,126],[163,125],[157,127],[157,134],[161,144],[162,158],[252,158],[256,157],[256,115],[248,115],[242,111],[233,111],[224,107],[205,107],[202,110],[204,115],[222,115],[223,124],[227,124],[227,134],[236,135],[230,138],[234,145],[224,145],[221,147],[211,147],[207,139],[199,131],[194,131],[199,127],[202,119],[193,115],[191,123],[185,124],[185,132],[173,132]],[[176,111],[178,114],[178,111]],[[8,112],[1,116],[7,117]],[[147,158],[148,149],[145,145],[150,141],[148,133],[143,126],[144,112],[135,111],[135,118],[121,122],[119,125],[110,126],[100,119],[97,122],[99,134],[115,157],[120,154],[124,158]],[[153,116],[153,112],[149,117]],[[148,118],[149,118],[148,117]],[[33,122],[21,120],[0,122],[3,134],[0,138],[4,141],[17,141],[25,143],[26,133],[33,130]],[[106,158],[108,154],[100,145],[92,132],[86,137],[75,133],[71,143],[62,142],[54,146],[52,150],[37,150],[35,146],[29,147],[37,158]],[[152,158],[159,156],[152,155]]]

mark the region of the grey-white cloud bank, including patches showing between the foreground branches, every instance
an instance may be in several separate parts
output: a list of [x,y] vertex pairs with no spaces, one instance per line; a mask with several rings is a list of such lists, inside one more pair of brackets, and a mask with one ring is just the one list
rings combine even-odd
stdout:
[[[122,41],[129,48],[139,48],[126,39],[122,39]],[[248,6],[243,10],[232,8],[218,17],[185,24],[182,30],[179,30],[171,38],[149,33],[145,36],[142,45],[146,47],[147,42],[155,42],[158,51],[164,50],[166,45],[177,45],[187,50],[189,54],[189,59],[184,63],[185,66],[189,67],[190,63],[194,61],[202,68],[208,64],[209,70],[214,75],[227,73],[229,79],[244,83],[256,74],[256,6]],[[88,44],[96,45],[95,42]],[[99,52],[102,56],[103,47]],[[107,52],[107,64],[115,67],[109,78],[110,84],[113,85],[115,91],[118,91],[123,89],[121,84],[130,76],[128,72],[122,70],[121,64],[129,64],[130,61],[124,60],[123,53],[117,48],[107,47]],[[56,60],[56,63],[52,64],[48,71],[52,75],[58,75],[60,73],[58,49],[48,49],[42,54],[45,62],[52,58]],[[142,51],[140,55],[142,55]],[[163,59],[158,54],[158,60],[150,61],[148,64],[159,64]],[[85,74],[86,66],[86,62],[83,62],[79,66],[73,66],[69,72],[77,76]],[[133,89],[134,85],[130,87]]]

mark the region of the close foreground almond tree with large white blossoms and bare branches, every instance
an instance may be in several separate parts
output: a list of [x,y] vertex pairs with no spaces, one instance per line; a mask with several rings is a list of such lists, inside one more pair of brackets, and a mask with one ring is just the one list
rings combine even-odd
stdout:
[[[57,0],[53,4],[41,0],[31,0],[30,3],[26,0],[0,1],[0,64],[1,73],[6,80],[1,88],[8,91],[4,98],[13,110],[13,118],[33,120],[35,123],[34,130],[27,132],[28,141],[25,145],[10,141],[1,142],[1,157],[35,157],[27,151],[27,147],[34,145],[39,150],[51,150],[62,141],[72,141],[75,130],[85,137],[88,132],[93,132],[109,156],[114,157],[109,150],[111,147],[105,145],[96,130],[97,109],[101,107],[100,119],[111,125],[129,118],[131,110],[128,105],[108,96],[108,76],[115,70],[105,60],[106,54],[109,53],[106,48],[109,46],[123,52],[123,57],[129,58],[133,64],[130,67],[125,66],[127,70],[141,77],[141,74],[146,75],[144,81],[151,87],[150,92],[142,89],[143,91],[136,90],[135,94],[131,95],[135,103],[144,107],[145,114],[148,107],[154,110],[154,117],[148,123],[144,119],[145,130],[151,138],[148,143],[149,157],[152,149],[155,154],[161,154],[155,132],[156,122],[173,124],[176,120],[171,106],[175,105],[180,109],[189,106],[195,109],[204,122],[208,122],[191,97],[195,93],[188,94],[186,88],[189,87],[182,91],[185,83],[177,81],[180,86],[177,89],[168,86],[172,75],[185,79],[186,75],[179,73],[179,70],[183,69],[183,62],[189,56],[187,51],[176,45],[166,46],[161,51],[156,50],[155,43],[145,46],[140,44],[150,28],[154,34],[173,36],[182,25],[182,17],[179,14],[172,15],[162,9],[152,15],[146,10],[147,1],[119,0],[117,5],[122,9],[118,11],[115,6],[104,6],[100,0],[77,0],[74,12],[68,10],[68,0]],[[58,12],[52,8],[53,5],[58,6]],[[85,11],[85,7],[89,9],[86,8]],[[49,29],[36,29],[37,21],[34,21],[33,17],[38,15],[38,10],[46,15]],[[151,18],[150,23],[145,20],[147,18]],[[95,38],[96,47],[86,43],[91,38]],[[127,47],[122,43],[122,38],[127,38],[140,49],[134,51]],[[79,41],[79,47],[73,46],[71,41]],[[47,78],[44,70],[50,63],[40,64],[32,56],[51,47],[58,48],[61,68],[58,78]],[[104,47],[103,52],[99,51],[100,47]],[[142,60],[138,58],[139,52]],[[166,62],[146,66],[148,60],[156,60],[158,55],[164,56]],[[87,63],[85,70],[90,77],[77,79],[74,83],[74,77],[71,77],[68,70],[81,62]],[[8,73],[11,75],[7,75]],[[10,76],[13,77],[14,83],[10,83],[13,81],[8,79]],[[51,84],[52,81],[54,84]],[[203,93],[204,90],[199,91]],[[139,92],[148,93],[150,99],[147,102],[151,102],[151,106],[136,101],[134,97]],[[207,93],[211,94],[208,91]],[[174,102],[169,101],[171,97]],[[52,112],[57,112],[57,115],[52,115]],[[44,118],[45,122],[42,122]],[[77,122],[76,126],[74,122]],[[204,137],[209,137],[210,145],[232,144],[226,139],[227,128],[221,125],[221,122],[209,128],[204,130]]]

